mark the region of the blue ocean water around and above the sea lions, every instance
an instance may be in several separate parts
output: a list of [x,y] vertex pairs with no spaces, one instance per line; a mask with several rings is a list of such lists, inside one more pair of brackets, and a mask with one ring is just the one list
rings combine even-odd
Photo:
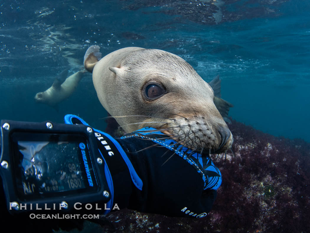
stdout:
[[67,113],[104,129],[106,111],[85,76],[59,111],[35,103],[57,74],[82,69],[90,45],[106,55],[157,48],[222,79],[229,116],[275,136],[310,142],[310,2],[0,1],[0,116],[63,122]]

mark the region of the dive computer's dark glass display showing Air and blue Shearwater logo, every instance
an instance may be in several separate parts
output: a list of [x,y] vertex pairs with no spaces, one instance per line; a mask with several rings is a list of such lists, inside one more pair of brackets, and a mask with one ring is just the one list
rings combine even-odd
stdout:
[[85,135],[14,132],[11,145],[20,199],[98,190]]

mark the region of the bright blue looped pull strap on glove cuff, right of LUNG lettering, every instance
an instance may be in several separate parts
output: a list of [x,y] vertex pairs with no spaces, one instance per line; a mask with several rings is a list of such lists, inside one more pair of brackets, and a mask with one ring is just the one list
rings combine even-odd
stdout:
[[[83,125],[89,126],[86,123],[86,121],[84,121],[82,118],[75,116],[73,114],[68,114],[68,115],[64,116],[64,122],[66,124],[73,124],[73,122],[78,122],[78,124],[82,123]],[[108,137],[113,142],[113,144],[116,146],[117,150],[120,152],[122,158],[124,159],[128,169],[129,169],[129,173],[130,173],[132,182],[134,183],[134,185],[139,190],[142,190],[143,182],[140,179],[140,177],[138,176],[137,172],[135,171],[135,168],[133,167],[132,163],[130,162],[129,158],[127,157],[127,155],[126,155],[125,151],[123,150],[123,148],[121,147],[121,145],[111,135],[104,133],[100,130],[96,130],[96,129],[94,129],[94,130],[100,134],[105,135],[106,137]],[[112,183],[112,185],[113,185],[113,183]]]

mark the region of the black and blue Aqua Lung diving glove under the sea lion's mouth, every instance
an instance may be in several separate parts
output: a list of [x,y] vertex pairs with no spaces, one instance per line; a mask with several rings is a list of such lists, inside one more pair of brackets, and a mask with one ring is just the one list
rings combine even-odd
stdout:
[[[87,125],[71,116],[71,122]],[[110,172],[111,210],[129,208],[173,217],[204,217],[210,211],[222,177],[209,156],[149,127],[121,139],[100,130],[95,136]]]

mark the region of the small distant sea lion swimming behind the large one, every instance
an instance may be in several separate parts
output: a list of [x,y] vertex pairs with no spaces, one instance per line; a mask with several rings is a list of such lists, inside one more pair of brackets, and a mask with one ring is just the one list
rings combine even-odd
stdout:
[[78,86],[85,71],[78,71],[64,80],[64,77],[67,77],[66,73],[68,70],[62,71],[49,89],[37,93],[34,97],[36,102],[55,107],[56,104],[68,98]]

